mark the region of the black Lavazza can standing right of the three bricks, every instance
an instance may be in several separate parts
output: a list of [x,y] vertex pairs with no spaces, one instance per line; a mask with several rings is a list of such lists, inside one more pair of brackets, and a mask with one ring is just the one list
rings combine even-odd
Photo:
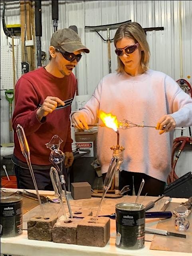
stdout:
[[140,249],[144,246],[145,210],[136,203],[119,203],[116,211],[116,242],[122,249]]

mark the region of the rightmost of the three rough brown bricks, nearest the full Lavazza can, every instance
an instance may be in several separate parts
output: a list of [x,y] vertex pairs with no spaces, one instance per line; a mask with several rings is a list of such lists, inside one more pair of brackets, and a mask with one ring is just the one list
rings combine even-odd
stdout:
[[87,216],[77,225],[77,244],[104,247],[110,238],[110,219],[99,217],[94,223]]

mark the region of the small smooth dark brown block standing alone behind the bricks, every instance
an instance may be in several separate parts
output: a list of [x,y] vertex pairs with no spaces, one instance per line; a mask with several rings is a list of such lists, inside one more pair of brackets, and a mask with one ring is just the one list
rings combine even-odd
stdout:
[[74,200],[91,198],[91,185],[88,182],[71,183],[71,196]]

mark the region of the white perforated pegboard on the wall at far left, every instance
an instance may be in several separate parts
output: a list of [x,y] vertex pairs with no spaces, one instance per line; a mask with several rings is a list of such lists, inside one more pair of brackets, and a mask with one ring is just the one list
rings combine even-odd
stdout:
[[[21,46],[14,46],[16,81],[22,75]],[[13,57],[11,46],[1,46],[1,90],[14,89],[13,84]]]

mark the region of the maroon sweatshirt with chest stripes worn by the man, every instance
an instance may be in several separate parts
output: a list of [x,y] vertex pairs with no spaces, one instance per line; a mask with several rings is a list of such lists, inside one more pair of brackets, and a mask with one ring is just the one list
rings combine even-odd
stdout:
[[[63,78],[51,75],[44,67],[22,75],[15,88],[15,109],[13,113],[14,156],[26,163],[22,154],[16,127],[24,128],[30,149],[30,159],[33,165],[50,165],[50,149],[46,147],[53,135],[58,135],[63,142],[60,149],[63,152],[72,151],[70,119],[71,103],[75,95],[76,79],[73,73]],[[36,116],[37,109],[47,96],[58,97],[65,101],[65,106],[57,107],[52,113],[42,118]]]

